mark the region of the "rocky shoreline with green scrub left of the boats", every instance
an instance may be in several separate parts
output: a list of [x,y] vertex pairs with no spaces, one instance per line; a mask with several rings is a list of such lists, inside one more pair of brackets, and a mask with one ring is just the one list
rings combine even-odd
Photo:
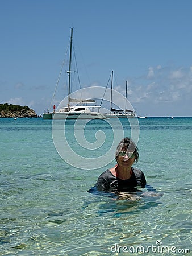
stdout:
[[33,109],[28,106],[13,104],[0,104],[0,118],[17,118],[17,117],[40,117]]

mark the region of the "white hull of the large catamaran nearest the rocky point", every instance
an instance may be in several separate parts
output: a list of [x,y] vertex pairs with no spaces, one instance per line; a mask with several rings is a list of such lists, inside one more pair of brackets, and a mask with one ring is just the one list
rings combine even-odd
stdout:
[[43,113],[43,119],[105,119],[106,117],[101,113]]

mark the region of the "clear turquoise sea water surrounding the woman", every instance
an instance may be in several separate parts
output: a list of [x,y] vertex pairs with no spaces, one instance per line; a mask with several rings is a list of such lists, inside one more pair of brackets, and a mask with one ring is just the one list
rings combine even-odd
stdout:
[[[112,129],[101,120],[86,126],[90,143],[97,130],[106,135],[97,156],[107,151],[112,131],[118,131],[115,122]],[[122,123],[129,135],[129,125]],[[74,121],[65,123],[72,144],[73,126]],[[136,167],[156,193],[143,189],[142,197],[93,195],[87,191],[114,160],[93,170],[91,159],[90,170],[73,167],[57,153],[52,121],[1,118],[0,254],[176,255],[174,250],[180,250],[179,255],[190,255],[192,118],[139,119],[139,127]],[[81,150],[84,157],[94,156],[94,150],[78,147],[78,154]],[[138,246],[145,251],[136,253]],[[172,246],[176,249],[171,251]]]

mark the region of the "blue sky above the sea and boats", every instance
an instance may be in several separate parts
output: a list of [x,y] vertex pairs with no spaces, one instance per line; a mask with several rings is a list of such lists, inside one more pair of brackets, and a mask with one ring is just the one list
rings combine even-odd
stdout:
[[[42,114],[74,28],[82,87],[114,89],[138,115],[191,116],[192,1],[0,0],[0,102]],[[80,72],[80,69],[79,69]],[[81,72],[80,72],[81,73]],[[56,105],[66,96],[64,84]]]

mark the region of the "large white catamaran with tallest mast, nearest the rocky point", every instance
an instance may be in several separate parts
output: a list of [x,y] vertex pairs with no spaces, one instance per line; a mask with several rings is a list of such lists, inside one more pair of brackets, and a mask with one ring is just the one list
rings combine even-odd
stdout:
[[[87,103],[95,103],[92,99],[76,99],[70,98],[71,88],[71,67],[72,67],[72,47],[73,47],[73,28],[70,34],[70,51],[69,51],[69,79],[68,79],[68,104],[53,112],[44,112],[43,119],[105,119],[106,117],[100,113],[101,106],[87,105]],[[76,103],[76,105],[72,105]],[[86,104],[86,105],[85,105]]]

